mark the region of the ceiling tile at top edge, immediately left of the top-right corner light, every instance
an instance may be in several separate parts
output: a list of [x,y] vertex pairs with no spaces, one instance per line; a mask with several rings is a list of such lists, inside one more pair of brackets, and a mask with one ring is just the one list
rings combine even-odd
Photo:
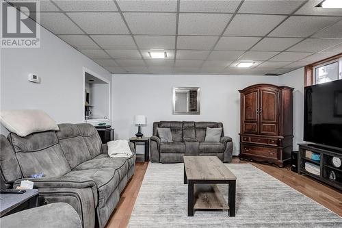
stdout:
[[242,3],[239,13],[259,13],[259,14],[290,14],[304,1],[267,1],[246,0]]

